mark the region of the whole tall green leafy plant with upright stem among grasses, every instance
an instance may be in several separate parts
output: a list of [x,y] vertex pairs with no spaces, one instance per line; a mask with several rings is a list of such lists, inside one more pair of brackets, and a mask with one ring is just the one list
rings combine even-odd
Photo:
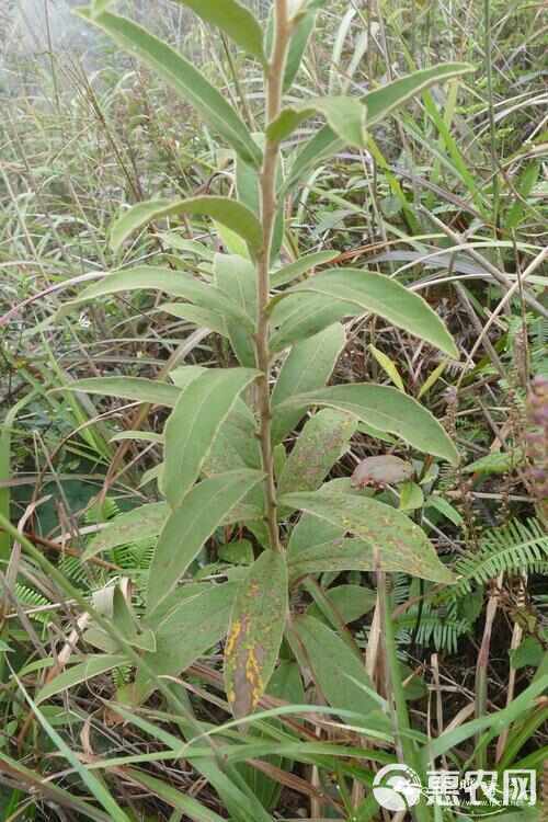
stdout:
[[[159,535],[141,618],[124,597],[115,596],[109,606],[119,632],[144,660],[124,692],[127,700],[141,701],[155,688],[151,670],[179,675],[228,633],[227,697],[235,716],[246,717],[276,670],[285,635],[302,664],[312,660],[328,701],[342,709],[346,706],[340,704],[341,694],[354,698],[351,694],[356,687],[361,693],[359,686],[344,682],[341,690],[327,667],[332,657],[322,657],[316,629],[310,630],[313,618],[290,618],[289,591],[320,571],[403,571],[446,584],[455,576],[423,530],[401,511],[355,491],[347,480],[324,479],[358,423],[373,435],[396,435],[411,448],[452,464],[458,458],[442,425],[401,391],[370,384],[326,387],[345,344],[342,320],[374,313],[449,357],[457,357],[458,351],[430,306],[395,279],[363,269],[309,275],[328,261],[324,254],[282,264],[284,219],[292,189],[315,163],[344,146],[365,148],[370,125],[470,67],[447,64],[416,71],[363,98],[332,95],[286,104],[323,0],[275,0],[264,38],[258,21],[237,0],[180,1],[218,26],[261,67],[263,133],[250,133],[203,73],[145,28],[111,13],[110,2],[95,0],[80,10],[193,105],[235,158],[237,198],[201,195],[139,203],[115,221],[111,244],[116,250],[151,221],[185,215],[214,220],[225,246],[238,253],[216,254],[199,276],[158,266],[109,274],[77,302],[127,290],[162,292],[183,300],[168,304],[167,311],[227,338],[239,365],[180,367],[170,383],[105,377],[70,386],[172,409],[158,472],[164,501],[115,520],[87,556],[126,543],[129,533]],[[326,125],[296,151],[286,151],[287,138],[311,116],[323,118]],[[322,410],[305,422],[287,454],[287,434],[309,409],[318,408]],[[179,585],[183,578],[192,578],[193,563],[216,529],[236,523],[256,541],[256,559],[243,576],[222,585]],[[96,626],[88,638],[111,654],[111,660],[95,660],[98,670],[121,664],[123,648],[112,638]],[[327,637],[326,643],[342,666],[357,665],[356,678],[370,687],[354,652],[336,635]],[[73,671],[60,678],[57,686],[49,683],[42,698],[81,681]],[[364,711],[375,708],[363,693],[361,701]]]

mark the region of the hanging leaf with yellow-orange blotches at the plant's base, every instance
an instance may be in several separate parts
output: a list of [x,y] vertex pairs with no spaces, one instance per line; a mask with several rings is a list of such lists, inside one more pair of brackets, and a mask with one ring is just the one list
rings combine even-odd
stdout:
[[265,550],[251,566],[236,597],[225,650],[225,684],[235,717],[253,711],[277,661],[287,617],[287,566]]

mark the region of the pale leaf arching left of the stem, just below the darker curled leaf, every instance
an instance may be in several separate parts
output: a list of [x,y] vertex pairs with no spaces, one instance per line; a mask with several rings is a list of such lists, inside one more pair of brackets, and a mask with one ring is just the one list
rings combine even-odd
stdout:
[[[170,269],[160,269],[152,265],[140,265],[135,269],[127,269],[115,274],[109,274],[99,283],[84,288],[78,299],[68,302],[65,311],[72,306],[84,302],[98,297],[106,297],[119,292],[135,292],[141,289],[153,289],[165,292],[172,297],[183,297],[196,305],[207,308],[225,318],[233,318],[241,322],[249,331],[253,331],[253,323],[239,306],[219,292],[218,288],[209,283],[203,283],[192,274],[183,271],[172,271]],[[60,313],[62,313],[61,309]]]

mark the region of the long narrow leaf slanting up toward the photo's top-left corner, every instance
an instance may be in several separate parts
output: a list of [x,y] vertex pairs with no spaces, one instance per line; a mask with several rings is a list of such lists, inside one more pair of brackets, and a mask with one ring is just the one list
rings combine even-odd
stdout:
[[77,13],[157,71],[247,162],[256,167],[261,164],[261,151],[239,114],[203,73],[174,48],[127,18],[109,12],[92,18],[85,9],[79,9]]

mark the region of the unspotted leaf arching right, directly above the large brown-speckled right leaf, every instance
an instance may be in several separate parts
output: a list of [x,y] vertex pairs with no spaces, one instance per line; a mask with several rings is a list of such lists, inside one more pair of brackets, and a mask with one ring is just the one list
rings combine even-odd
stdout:
[[443,426],[430,411],[397,388],[354,383],[317,389],[275,407],[274,421],[279,412],[299,409],[301,414],[308,406],[347,411],[378,431],[397,434],[424,454],[443,457],[453,465],[458,463],[457,449]]

